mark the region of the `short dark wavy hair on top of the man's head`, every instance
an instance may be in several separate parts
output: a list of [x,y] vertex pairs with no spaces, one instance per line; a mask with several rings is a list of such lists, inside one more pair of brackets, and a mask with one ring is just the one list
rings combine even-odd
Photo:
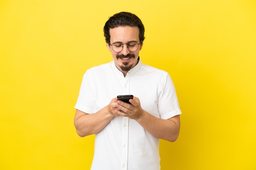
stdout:
[[115,28],[118,26],[137,26],[139,28],[139,41],[144,41],[145,28],[139,17],[133,13],[120,12],[116,13],[112,17],[109,17],[103,28],[106,43],[110,44],[110,28]]

